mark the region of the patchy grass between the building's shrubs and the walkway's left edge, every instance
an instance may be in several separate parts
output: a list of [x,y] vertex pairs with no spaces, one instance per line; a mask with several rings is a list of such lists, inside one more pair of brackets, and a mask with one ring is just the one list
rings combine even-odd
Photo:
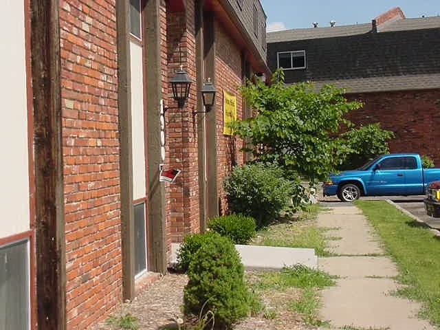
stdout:
[[[294,217],[272,223],[259,230],[251,244],[283,246],[287,248],[314,248],[318,256],[329,256],[325,231],[330,228],[316,228],[316,216],[319,204],[311,204]],[[325,321],[318,318],[319,294],[322,287],[334,285],[333,278],[325,272],[312,270],[301,265],[285,267],[281,272],[259,272],[254,278],[252,289],[256,292],[283,292],[287,288],[296,288],[299,297],[288,299],[287,308],[300,314],[307,325],[321,326]],[[276,311],[268,310],[268,318],[276,318]]]

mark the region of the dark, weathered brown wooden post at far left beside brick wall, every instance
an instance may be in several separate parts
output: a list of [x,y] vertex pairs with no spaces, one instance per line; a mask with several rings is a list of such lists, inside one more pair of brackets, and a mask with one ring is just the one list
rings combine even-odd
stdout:
[[36,295],[39,329],[66,327],[58,0],[31,1]]

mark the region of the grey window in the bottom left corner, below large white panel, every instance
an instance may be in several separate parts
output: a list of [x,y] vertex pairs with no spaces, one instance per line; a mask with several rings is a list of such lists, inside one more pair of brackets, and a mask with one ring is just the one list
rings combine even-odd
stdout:
[[0,247],[0,329],[30,325],[28,240]]

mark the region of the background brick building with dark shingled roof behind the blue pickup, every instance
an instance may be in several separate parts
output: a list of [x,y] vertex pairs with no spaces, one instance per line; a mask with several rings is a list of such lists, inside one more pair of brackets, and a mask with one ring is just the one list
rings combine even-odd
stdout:
[[362,109],[356,124],[380,122],[395,133],[391,152],[428,155],[440,166],[440,17],[407,19],[393,8],[356,25],[267,34],[270,69],[286,83],[311,81],[347,89]]

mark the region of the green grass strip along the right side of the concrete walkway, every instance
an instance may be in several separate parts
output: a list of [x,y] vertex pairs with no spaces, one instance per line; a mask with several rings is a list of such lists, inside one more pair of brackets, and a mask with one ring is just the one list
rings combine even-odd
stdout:
[[399,268],[397,294],[423,304],[421,317],[440,326],[440,236],[386,201],[356,201]]

